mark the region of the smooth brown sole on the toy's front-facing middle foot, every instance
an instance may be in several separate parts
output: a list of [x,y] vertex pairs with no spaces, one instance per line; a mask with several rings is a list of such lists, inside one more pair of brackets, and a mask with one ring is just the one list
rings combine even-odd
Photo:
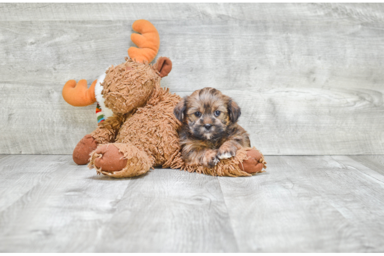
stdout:
[[106,172],[116,172],[127,165],[127,159],[123,158],[124,154],[112,144],[98,147],[95,153],[102,155],[102,157],[95,158],[94,165]]

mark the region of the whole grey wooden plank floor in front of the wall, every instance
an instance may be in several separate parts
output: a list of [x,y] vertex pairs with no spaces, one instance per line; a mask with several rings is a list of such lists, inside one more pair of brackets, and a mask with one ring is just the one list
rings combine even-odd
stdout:
[[267,156],[228,178],[112,179],[0,155],[0,252],[384,252],[384,156]]

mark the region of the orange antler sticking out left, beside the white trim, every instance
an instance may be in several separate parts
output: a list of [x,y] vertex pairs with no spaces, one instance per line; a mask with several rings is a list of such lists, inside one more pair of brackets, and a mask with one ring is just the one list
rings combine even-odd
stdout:
[[75,80],[69,80],[63,87],[63,98],[72,106],[87,106],[96,102],[94,96],[94,86],[98,80],[94,80],[89,89],[87,80],[80,80],[76,84]]

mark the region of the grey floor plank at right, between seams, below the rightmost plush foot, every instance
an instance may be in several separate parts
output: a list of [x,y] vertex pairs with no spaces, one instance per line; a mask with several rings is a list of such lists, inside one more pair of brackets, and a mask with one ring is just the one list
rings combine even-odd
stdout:
[[266,160],[267,173],[219,178],[240,252],[384,250],[384,176],[347,156]]

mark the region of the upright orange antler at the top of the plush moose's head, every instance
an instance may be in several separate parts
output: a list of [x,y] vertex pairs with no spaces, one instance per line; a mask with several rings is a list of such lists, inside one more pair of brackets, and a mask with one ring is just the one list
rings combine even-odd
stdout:
[[137,62],[146,60],[151,62],[157,55],[160,47],[159,32],[148,20],[138,19],[132,24],[132,29],[140,34],[131,34],[132,42],[139,48],[130,47],[128,56]]

